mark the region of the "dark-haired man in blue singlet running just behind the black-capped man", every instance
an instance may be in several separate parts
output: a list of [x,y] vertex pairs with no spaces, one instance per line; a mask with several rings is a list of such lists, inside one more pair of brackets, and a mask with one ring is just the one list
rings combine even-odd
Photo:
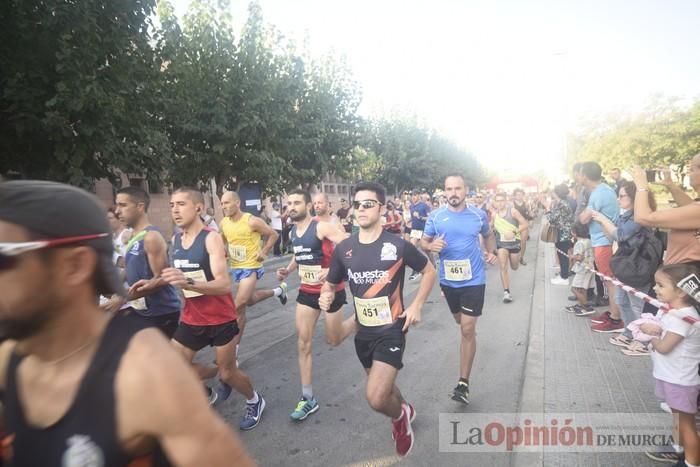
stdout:
[[129,318],[144,327],[156,327],[168,339],[173,337],[180,318],[180,297],[174,287],[160,277],[168,267],[168,245],[148,219],[150,197],[142,188],[117,191],[115,214],[133,229],[126,245],[124,262],[129,286]]

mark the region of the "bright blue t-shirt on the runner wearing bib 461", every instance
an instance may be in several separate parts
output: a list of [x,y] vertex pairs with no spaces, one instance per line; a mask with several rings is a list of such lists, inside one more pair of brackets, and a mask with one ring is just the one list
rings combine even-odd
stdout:
[[[486,283],[484,257],[479,244],[479,235],[491,232],[486,213],[475,206],[467,205],[462,211],[450,211],[447,206],[430,214],[423,234],[435,238],[443,235],[447,243],[440,252],[440,284],[458,288]],[[445,265],[449,261],[469,260],[471,279],[454,281],[445,277]],[[454,264],[454,263],[453,263]]]

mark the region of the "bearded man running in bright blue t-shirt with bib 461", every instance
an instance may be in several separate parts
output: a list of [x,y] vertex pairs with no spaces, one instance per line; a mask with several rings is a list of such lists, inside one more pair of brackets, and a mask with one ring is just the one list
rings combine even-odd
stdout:
[[486,213],[466,204],[466,184],[461,175],[445,179],[448,206],[431,214],[421,246],[440,255],[440,288],[462,334],[459,381],[452,399],[469,403],[469,375],[476,355],[476,322],[484,308],[486,270],[480,247],[483,237],[486,262],[496,264],[496,236]]

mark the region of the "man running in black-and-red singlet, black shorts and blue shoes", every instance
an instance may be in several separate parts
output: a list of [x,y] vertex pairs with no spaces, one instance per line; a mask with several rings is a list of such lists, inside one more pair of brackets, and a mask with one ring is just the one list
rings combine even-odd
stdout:
[[[199,213],[204,209],[202,193],[180,188],[170,198],[173,221],[182,233],[173,238],[173,264],[162,277],[180,287],[185,296],[180,325],[173,345],[191,363],[194,355],[206,346],[214,347],[219,380],[246,397],[246,411],[241,430],[255,428],[260,422],[265,399],[253,389],[248,375],[236,365],[238,334],[236,305],[231,297],[231,279],[226,269],[226,253],[221,235],[204,227]],[[215,376],[199,367],[203,378]],[[227,389],[224,387],[224,390]],[[230,389],[226,392],[230,392]],[[224,392],[224,398],[228,394]],[[212,401],[216,402],[216,400]]]

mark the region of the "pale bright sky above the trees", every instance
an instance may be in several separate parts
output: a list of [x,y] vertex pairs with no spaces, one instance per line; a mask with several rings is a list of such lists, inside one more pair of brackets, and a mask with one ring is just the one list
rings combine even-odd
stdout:
[[[259,3],[312,53],[347,57],[363,115],[415,115],[494,172],[556,178],[581,119],[700,98],[700,0]],[[232,4],[242,24],[248,2]]]

